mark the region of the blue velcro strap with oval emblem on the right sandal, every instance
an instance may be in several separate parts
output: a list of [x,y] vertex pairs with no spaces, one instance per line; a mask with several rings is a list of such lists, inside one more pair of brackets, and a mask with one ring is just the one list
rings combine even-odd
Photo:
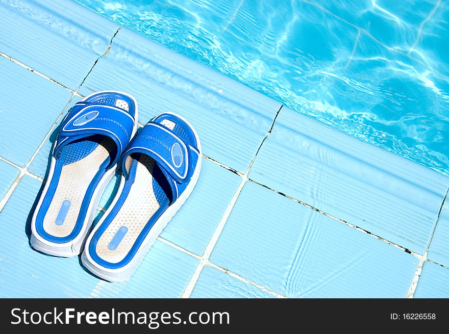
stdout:
[[184,183],[189,176],[190,151],[186,144],[172,131],[158,123],[148,122],[122,158],[123,174],[126,157],[132,153],[144,153],[153,158],[177,183]]

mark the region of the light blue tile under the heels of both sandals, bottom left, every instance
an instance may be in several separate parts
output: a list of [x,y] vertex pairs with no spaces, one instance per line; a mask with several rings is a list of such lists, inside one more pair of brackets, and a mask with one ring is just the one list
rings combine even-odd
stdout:
[[[180,297],[197,260],[161,242],[127,281],[109,283],[89,274],[77,256],[57,258],[33,250],[28,241],[30,210],[41,183],[23,176],[0,213],[1,297]],[[151,277],[151,279],[148,279]]]

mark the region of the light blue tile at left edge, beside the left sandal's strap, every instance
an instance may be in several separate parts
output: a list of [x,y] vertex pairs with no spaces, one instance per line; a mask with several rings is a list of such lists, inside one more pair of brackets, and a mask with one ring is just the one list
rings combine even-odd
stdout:
[[24,167],[72,94],[3,57],[0,71],[0,156]]

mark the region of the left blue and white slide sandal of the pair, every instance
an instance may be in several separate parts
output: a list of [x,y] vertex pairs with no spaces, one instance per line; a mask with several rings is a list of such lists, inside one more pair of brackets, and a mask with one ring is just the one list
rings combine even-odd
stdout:
[[128,94],[98,92],[73,106],[33,215],[33,248],[65,257],[81,252],[98,201],[136,130],[137,103]]

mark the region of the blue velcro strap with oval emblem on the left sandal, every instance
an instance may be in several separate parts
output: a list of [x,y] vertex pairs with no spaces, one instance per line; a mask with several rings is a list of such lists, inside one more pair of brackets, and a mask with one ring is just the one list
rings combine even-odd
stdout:
[[133,127],[133,117],[119,108],[104,105],[76,105],[61,126],[55,151],[71,142],[70,139],[104,135],[117,144],[117,156],[119,156],[131,140]]

